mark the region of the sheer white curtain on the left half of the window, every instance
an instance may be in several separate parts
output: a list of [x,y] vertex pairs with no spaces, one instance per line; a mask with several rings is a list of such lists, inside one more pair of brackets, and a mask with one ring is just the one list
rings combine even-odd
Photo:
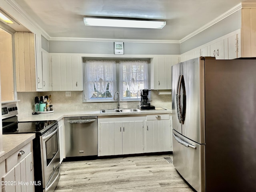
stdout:
[[95,94],[116,91],[116,62],[110,60],[86,60],[84,77],[84,96],[90,99]]

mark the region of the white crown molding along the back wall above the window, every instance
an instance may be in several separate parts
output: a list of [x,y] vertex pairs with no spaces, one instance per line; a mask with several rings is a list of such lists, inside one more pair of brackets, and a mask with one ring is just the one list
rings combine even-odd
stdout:
[[137,39],[104,39],[104,38],[71,38],[51,37],[50,41],[90,41],[90,42],[126,42],[126,43],[180,43],[179,40],[137,40]]

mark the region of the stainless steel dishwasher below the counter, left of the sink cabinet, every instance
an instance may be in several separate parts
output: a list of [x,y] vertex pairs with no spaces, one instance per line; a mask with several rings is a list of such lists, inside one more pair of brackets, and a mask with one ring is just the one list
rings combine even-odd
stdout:
[[97,117],[65,118],[65,144],[66,157],[97,155]]

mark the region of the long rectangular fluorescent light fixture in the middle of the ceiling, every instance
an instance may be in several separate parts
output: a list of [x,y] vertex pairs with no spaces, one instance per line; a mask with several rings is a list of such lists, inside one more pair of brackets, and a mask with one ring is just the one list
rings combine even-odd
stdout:
[[133,18],[104,18],[84,16],[84,24],[89,26],[104,27],[130,27],[130,28],[154,28],[162,29],[165,20],[142,20]]

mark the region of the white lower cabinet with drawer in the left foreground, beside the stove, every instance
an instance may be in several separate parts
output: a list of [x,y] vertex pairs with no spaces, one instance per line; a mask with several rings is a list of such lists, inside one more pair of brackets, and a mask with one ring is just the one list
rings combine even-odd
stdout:
[[[24,154],[22,154],[22,151]],[[18,153],[22,155],[18,156]],[[32,142],[5,161],[6,173],[2,176],[2,192],[34,192]]]

